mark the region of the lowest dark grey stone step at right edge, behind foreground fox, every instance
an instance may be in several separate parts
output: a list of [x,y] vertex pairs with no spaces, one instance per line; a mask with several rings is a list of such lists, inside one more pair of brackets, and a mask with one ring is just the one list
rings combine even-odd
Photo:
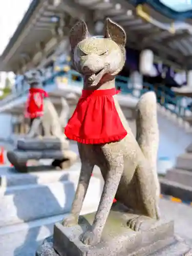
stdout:
[[192,202],[192,187],[182,185],[175,181],[169,181],[166,178],[159,178],[161,184],[161,193],[185,202]]

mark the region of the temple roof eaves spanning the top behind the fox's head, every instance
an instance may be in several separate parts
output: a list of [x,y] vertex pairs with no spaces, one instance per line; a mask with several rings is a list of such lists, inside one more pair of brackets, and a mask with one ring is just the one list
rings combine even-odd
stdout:
[[[35,6],[37,2],[39,4]],[[54,4],[56,2],[57,4]],[[192,67],[192,26],[190,24],[182,23],[178,26],[173,19],[163,16],[147,4],[135,8],[133,3],[126,0],[118,0],[118,3],[116,0],[103,0],[103,2],[94,0],[94,4],[91,4],[92,2],[92,0],[33,0],[33,5],[31,4],[27,12],[28,20],[24,17],[0,57],[0,70],[18,70],[24,66],[24,62],[33,61],[33,57],[38,52],[40,53],[38,61],[41,61],[44,58],[45,45],[52,38],[56,38],[54,46],[56,48],[59,43],[58,37],[53,35],[54,24],[48,19],[65,13],[68,15],[70,13],[73,18],[68,27],[73,25],[75,19],[87,17],[90,14],[94,14],[93,22],[110,17],[124,28],[128,47],[138,50],[151,49],[160,59],[169,61],[179,69]],[[32,7],[35,8],[32,10]],[[25,19],[27,21],[24,26]],[[66,36],[67,31],[69,30],[65,30]],[[35,63],[38,64],[38,61]]]

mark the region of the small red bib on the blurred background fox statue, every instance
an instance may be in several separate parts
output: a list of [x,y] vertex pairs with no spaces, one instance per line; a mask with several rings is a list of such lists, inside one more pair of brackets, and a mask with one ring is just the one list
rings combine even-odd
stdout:
[[44,114],[44,98],[48,93],[43,89],[30,88],[25,117],[37,118]]

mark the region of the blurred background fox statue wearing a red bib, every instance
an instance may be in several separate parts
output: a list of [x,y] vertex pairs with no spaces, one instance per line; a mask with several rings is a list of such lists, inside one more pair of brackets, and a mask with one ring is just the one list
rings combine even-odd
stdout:
[[[69,115],[69,111],[70,111],[69,105],[66,99],[61,98],[62,111],[61,111],[61,116],[59,117],[53,103],[50,101],[48,97],[48,94],[46,94],[46,92],[42,88],[42,76],[43,76],[42,71],[38,69],[29,70],[24,75],[24,79],[29,84],[30,90],[34,91],[34,94],[33,94],[34,103],[37,105],[37,107],[39,105],[39,108],[40,108],[40,104],[43,104],[43,113],[37,113],[37,115],[35,116],[30,116],[31,127],[27,136],[35,137],[40,135],[39,134],[40,125],[42,126],[44,136],[55,136],[55,137],[65,136],[63,134],[63,127],[66,125],[66,123],[64,124],[66,120],[66,115],[67,114]],[[40,91],[38,92],[38,90],[45,92],[44,97],[39,97],[42,95],[39,95]]]

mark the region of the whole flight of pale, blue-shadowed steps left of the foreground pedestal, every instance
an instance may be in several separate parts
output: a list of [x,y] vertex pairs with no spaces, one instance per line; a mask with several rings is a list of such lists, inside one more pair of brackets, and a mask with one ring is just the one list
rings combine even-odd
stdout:
[[[34,256],[53,224],[69,214],[80,163],[67,170],[16,173],[0,168],[0,251],[8,256]],[[103,181],[92,177],[82,214],[97,209]],[[0,253],[1,254],[1,253]]]

